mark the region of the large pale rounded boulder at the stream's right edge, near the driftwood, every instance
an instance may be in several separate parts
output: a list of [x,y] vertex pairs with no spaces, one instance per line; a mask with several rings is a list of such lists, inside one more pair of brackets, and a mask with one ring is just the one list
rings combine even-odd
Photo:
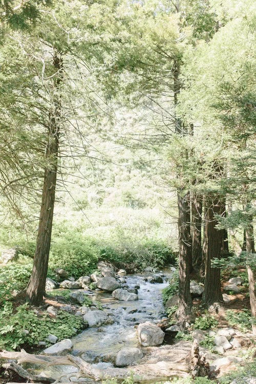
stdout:
[[138,329],[139,343],[143,347],[161,345],[164,338],[164,332],[157,325],[146,322],[139,324]]

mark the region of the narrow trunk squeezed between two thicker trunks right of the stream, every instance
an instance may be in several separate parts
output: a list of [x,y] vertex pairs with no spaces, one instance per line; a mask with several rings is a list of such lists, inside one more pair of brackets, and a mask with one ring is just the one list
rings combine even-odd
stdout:
[[191,195],[192,264],[199,270],[202,266],[202,210],[203,202],[197,194]]

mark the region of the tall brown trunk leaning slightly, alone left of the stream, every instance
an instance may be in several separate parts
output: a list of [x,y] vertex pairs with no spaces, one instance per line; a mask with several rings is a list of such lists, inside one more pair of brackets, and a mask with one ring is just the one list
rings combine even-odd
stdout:
[[[58,51],[54,50],[54,68],[58,76],[54,80],[54,92],[58,91],[62,79],[62,59]],[[57,178],[57,160],[60,129],[60,100],[59,96],[53,97],[53,106],[49,112],[49,125],[46,157],[49,165],[45,167],[44,186],[42,188],[42,200],[39,227],[36,240],[34,265],[27,288],[27,298],[30,304],[40,305],[45,294],[46,276],[51,245],[53,209],[55,202],[55,187]]]

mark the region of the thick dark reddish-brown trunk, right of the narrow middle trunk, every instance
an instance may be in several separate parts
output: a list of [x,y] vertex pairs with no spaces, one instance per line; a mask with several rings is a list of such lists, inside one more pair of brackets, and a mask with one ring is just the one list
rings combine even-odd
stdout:
[[211,309],[218,310],[219,303],[223,303],[221,293],[221,273],[220,268],[212,268],[211,260],[220,259],[222,232],[215,228],[218,224],[215,215],[220,215],[221,204],[219,198],[209,196],[206,199],[206,217],[204,231],[204,255],[205,255],[205,280],[203,303]]

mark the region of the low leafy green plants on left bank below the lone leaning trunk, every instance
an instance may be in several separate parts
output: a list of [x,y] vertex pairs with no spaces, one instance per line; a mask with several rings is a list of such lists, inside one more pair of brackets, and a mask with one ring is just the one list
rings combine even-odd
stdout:
[[60,341],[85,327],[82,319],[64,311],[51,318],[48,314],[37,315],[27,304],[20,305],[14,312],[11,303],[6,303],[0,311],[0,324],[0,348],[7,350],[47,342],[49,334],[56,335]]

